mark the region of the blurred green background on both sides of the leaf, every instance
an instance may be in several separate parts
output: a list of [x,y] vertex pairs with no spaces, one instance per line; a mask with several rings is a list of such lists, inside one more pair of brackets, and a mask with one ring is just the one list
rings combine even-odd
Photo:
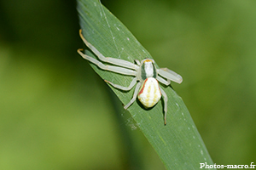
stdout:
[[[158,65],[183,76],[172,87],[212,160],[256,162],[256,2],[102,3]],[[0,169],[136,169],[132,159],[164,169],[77,54],[84,45],[75,1],[0,1],[0,23]]]

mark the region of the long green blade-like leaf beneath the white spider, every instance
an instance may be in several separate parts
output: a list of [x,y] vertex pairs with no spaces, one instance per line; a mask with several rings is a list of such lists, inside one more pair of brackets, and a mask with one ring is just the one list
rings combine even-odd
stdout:
[[[131,32],[98,0],[78,0],[78,11],[84,37],[105,57],[131,62],[134,62],[134,59],[152,59]],[[90,51],[86,51],[86,54],[96,58],[96,55],[91,54]],[[155,61],[157,62],[157,59]],[[127,87],[132,80],[132,77],[102,71],[96,65],[91,63],[90,65],[102,79],[115,84]],[[204,162],[207,162],[207,165],[213,165],[183,100],[172,88],[160,86],[168,96],[166,126],[163,101],[149,110],[145,110],[136,101],[128,111],[137,122],[137,126],[152,144],[167,169],[198,169],[201,166],[200,163]],[[130,92],[111,88],[124,105],[131,100],[134,88]]]

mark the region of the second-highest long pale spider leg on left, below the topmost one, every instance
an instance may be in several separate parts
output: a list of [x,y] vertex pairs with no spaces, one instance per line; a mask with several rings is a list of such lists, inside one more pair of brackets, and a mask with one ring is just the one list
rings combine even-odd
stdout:
[[123,75],[128,75],[128,76],[136,76],[137,75],[137,71],[132,71],[129,69],[125,69],[123,67],[119,67],[119,66],[112,66],[112,65],[103,65],[102,62],[98,61],[97,59],[94,59],[86,54],[83,54],[81,51],[83,49],[78,49],[78,53],[84,58],[89,60],[90,62],[92,62],[93,64],[97,65],[98,67],[100,67],[102,70],[106,70],[106,71],[113,71],[119,74],[123,74]]

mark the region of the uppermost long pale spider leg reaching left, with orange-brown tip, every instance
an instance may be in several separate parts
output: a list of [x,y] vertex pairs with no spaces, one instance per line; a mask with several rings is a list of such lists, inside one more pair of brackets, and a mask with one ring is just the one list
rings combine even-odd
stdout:
[[119,65],[119,66],[123,66],[132,70],[137,70],[139,68],[138,65],[135,65],[129,61],[126,61],[124,59],[115,59],[115,58],[111,58],[111,57],[104,57],[104,55],[102,55],[93,45],[90,44],[90,42],[87,42],[87,40],[85,40],[83,34],[82,34],[82,30],[79,30],[79,35],[81,37],[81,39],[83,40],[83,42],[85,43],[85,45],[90,48],[91,51],[93,51],[94,54],[96,54],[98,56],[99,59],[101,59],[103,62],[107,62],[107,63],[111,63],[113,65]]

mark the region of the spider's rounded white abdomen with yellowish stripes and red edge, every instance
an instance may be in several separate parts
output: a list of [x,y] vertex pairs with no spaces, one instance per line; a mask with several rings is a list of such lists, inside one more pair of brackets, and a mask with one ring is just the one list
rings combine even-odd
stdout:
[[139,90],[137,98],[146,108],[153,107],[161,98],[158,81],[154,77],[146,78]]

